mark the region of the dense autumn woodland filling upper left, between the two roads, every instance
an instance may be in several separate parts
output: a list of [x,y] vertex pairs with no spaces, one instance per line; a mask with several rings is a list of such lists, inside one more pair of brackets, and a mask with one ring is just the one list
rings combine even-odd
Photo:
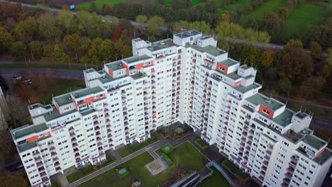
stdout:
[[[101,64],[131,56],[126,30],[100,15],[68,8],[59,13],[1,3],[0,50],[12,56],[43,62]],[[114,33],[120,32],[117,38]]]

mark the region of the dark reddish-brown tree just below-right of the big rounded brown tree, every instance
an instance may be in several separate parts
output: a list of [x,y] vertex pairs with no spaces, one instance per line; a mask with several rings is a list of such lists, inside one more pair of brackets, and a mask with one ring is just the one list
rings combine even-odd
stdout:
[[298,95],[303,98],[314,98],[321,94],[321,89],[325,84],[326,80],[323,77],[309,77],[305,79],[301,86],[299,86]]

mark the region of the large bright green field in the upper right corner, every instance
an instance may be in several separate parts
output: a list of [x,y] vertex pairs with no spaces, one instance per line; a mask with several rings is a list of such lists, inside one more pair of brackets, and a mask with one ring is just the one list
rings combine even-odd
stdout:
[[301,3],[287,18],[290,36],[305,36],[312,28],[323,23],[327,15],[328,6]]

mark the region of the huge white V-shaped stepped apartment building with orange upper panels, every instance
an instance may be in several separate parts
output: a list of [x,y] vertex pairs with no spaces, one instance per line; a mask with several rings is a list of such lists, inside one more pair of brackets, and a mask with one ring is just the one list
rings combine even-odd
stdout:
[[177,121],[263,186],[321,186],[332,162],[327,142],[309,130],[311,115],[258,93],[256,69],[196,30],[132,45],[133,57],[85,70],[86,89],[28,106],[34,125],[11,132],[32,186]]

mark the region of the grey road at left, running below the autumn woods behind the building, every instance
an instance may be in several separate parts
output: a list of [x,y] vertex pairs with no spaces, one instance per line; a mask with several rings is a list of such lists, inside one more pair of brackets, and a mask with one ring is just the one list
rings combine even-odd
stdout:
[[[4,77],[13,77],[15,75],[28,74],[31,72],[35,75],[45,76],[48,72],[47,69],[0,69],[0,74]],[[82,71],[70,71],[70,70],[59,70],[52,69],[51,77],[57,79],[74,79],[74,80],[84,80],[84,75]]]

